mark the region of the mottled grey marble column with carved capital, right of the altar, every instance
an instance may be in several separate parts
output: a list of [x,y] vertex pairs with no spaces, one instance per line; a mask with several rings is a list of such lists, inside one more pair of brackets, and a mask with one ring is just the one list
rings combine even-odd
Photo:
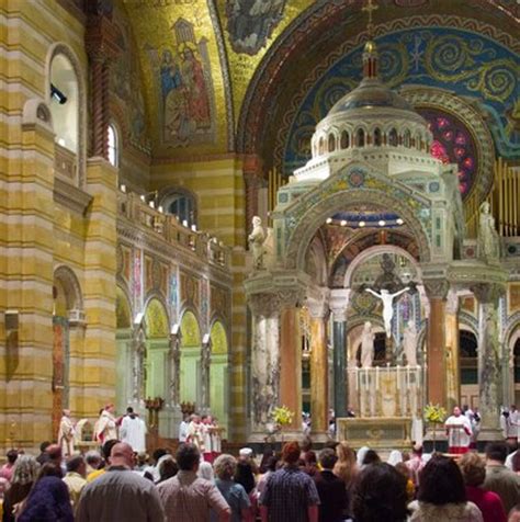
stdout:
[[498,332],[498,299],[502,286],[481,283],[472,286],[478,302],[478,411],[483,441],[500,440],[500,342]]

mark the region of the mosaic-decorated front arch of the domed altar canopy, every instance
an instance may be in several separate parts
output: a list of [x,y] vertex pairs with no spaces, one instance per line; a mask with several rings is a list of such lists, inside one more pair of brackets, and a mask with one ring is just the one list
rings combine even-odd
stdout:
[[[380,190],[351,189],[338,191],[327,197],[321,197],[315,205],[303,213],[287,242],[284,256],[285,268],[297,268],[304,271],[305,256],[310,240],[327,217],[337,212],[344,211],[349,206],[365,204],[368,201],[377,202],[374,206],[382,208],[399,208],[399,215],[408,225],[410,234],[417,242],[419,261],[421,263],[428,262],[430,259],[428,236],[421,223],[406,202]],[[289,220],[291,219],[291,216],[286,217],[289,217]]]

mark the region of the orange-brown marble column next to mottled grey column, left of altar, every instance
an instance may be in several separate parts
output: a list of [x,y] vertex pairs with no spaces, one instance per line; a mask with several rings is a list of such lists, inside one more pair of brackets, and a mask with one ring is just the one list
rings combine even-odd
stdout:
[[287,431],[302,430],[302,334],[296,306],[286,305],[280,329],[280,404],[294,411]]

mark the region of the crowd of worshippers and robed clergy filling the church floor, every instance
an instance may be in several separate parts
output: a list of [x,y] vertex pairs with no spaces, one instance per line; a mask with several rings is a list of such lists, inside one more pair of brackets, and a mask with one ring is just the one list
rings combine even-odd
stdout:
[[58,444],[43,443],[36,457],[7,453],[2,522],[520,522],[518,436],[488,443],[482,456],[470,450],[466,416],[455,408],[452,418],[445,428],[459,445],[448,455],[414,445],[386,456],[346,441],[318,451],[305,438],[235,457],[221,453],[214,419],[192,415],[176,453],[149,458],[132,408],[116,419],[108,405],[94,429],[100,450],[84,454],[64,436],[66,410]]

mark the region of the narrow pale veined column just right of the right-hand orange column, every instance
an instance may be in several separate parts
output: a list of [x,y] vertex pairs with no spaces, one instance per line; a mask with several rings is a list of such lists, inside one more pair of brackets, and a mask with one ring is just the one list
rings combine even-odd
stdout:
[[451,411],[461,404],[461,370],[459,351],[459,297],[455,292],[448,294],[445,309],[446,330],[446,407]]

